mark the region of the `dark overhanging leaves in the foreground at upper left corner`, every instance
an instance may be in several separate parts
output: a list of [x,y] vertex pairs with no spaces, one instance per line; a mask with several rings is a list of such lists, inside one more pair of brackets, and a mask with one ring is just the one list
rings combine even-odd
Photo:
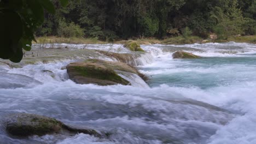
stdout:
[[[66,5],[68,0],[60,0]],[[22,49],[31,50],[34,32],[44,22],[44,10],[54,14],[49,0],[2,0],[0,1],[0,58],[20,62]]]

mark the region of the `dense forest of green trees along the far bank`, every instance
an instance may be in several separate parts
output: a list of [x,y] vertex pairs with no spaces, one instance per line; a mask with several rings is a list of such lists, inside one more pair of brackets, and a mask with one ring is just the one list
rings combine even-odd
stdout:
[[116,40],[256,34],[256,0],[73,0],[66,8],[53,2],[56,14],[45,13],[37,36]]

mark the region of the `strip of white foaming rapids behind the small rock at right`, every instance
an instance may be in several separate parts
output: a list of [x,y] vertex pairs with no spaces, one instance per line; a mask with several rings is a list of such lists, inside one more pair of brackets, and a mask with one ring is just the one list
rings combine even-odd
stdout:
[[241,54],[256,53],[255,44],[247,43],[207,43],[186,45],[142,45],[143,49],[158,57],[173,53],[177,50],[185,50],[202,57],[242,57]]

